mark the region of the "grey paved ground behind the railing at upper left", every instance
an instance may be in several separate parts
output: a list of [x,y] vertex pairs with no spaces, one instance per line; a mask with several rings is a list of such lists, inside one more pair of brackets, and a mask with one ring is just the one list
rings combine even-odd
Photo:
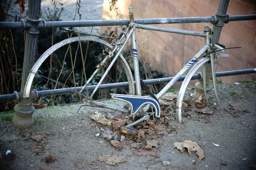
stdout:
[[[76,0],[56,0],[56,7],[62,9],[60,20],[61,21],[72,21],[79,20],[79,14],[76,11]],[[63,4],[63,6],[60,5]],[[22,17],[26,17],[28,1],[25,1],[25,11],[22,14]],[[2,2],[2,6],[5,6]],[[103,0],[81,0],[80,11],[81,20],[101,20],[103,10]],[[52,15],[54,13],[54,7],[52,0],[42,0],[41,2],[41,11],[42,18],[47,20],[49,18],[49,13]],[[15,4],[15,1],[12,1],[9,8],[9,17],[11,21],[15,21],[15,16],[20,16],[20,6]],[[76,14],[76,17],[75,17]],[[74,18],[75,17],[75,18]],[[99,34],[100,27],[94,27],[93,33]],[[91,27],[83,27],[81,31],[90,32]]]

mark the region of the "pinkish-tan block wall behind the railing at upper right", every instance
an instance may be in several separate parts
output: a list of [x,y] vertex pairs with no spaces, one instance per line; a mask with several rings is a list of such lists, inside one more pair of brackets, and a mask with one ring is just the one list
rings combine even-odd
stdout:
[[[134,18],[171,18],[171,17],[209,17],[217,11],[219,0],[119,0],[118,7],[128,19],[128,7],[133,6]],[[109,2],[104,0],[102,19],[115,19],[115,13],[109,11]],[[229,15],[256,14],[256,0],[230,0],[227,10]],[[186,23],[186,24],[161,24],[166,28],[185,29],[203,32],[204,26],[212,27],[210,23]],[[102,27],[101,32],[106,28]],[[173,50],[166,45],[157,35],[140,30],[137,32],[138,43],[148,41],[151,67],[162,71],[166,77],[177,74],[181,68],[204,46],[204,40],[200,37],[188,35],[156,32]],[[143,40],[142,37],[150,37]],[[146,35],[145,35],[146,34]],[[215,65],[216,71],[232,71],[248,68],[256,68],[256,20],[233,21],[222,29],[219,43],[226,47],[241,47],[240,49],[226,50],[229,58],[221,58],[220,64]],[[145,44],[145,43],[144,43]],[[139,49],[143,53],[145,49]],[[253,80],[256,75],[239,75],[222,77],[223,82],[235,82],[237,80]],[[192,85],[196,81],[192,82]],[[178,83],[177,85],[180,85]]]

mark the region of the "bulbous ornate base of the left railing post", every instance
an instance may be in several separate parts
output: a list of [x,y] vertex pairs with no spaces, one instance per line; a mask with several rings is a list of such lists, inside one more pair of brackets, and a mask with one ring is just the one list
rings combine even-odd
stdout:
[[31,99],[30,102],[19,102],[17,105],[15,105],[14,110],[16,115],[12,119],[12,124],[16,128],[26,129],[33,125],[34,119],[32,114],[34,113],[35,108],[32,105]]

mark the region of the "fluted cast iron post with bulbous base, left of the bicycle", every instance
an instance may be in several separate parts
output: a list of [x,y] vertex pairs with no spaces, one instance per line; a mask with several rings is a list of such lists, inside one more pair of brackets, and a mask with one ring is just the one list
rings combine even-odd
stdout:
[[[24,87],[26,84],[26,79],[31,70],[32,66],[35,63],[35,54],[37,49],[37,40],[38,40],[38,23],[41,21],[39,16],[41,10],[41,0],[29,0],[29,14],[26,17],[28,23],[32,27],[26,30],[26,42],[25,42],[25,54],[23,62],[23,76],[21,81],[21,94],[23,94]],[[22,95],[21,95],[22,96]],[[31,97],[21,98],[18,101],[18,104],[14,108],[16,115],[12,120],[13,125],[19,129],[24,129],[30,127],[34,123],[32,114],[35,111],[34,106],[32,105]]]

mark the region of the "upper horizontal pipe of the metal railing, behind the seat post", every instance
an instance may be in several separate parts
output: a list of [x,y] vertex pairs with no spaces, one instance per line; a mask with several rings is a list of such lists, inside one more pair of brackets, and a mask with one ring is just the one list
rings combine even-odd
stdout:
[[[230,16],[230,21],[256,20],[256,15],[235,15]],[[174,23],[211,23],[215,22],[214,17],[190,17],[190,18],[154,18],[137,19],[137,24],[174,24]],[[40,22],[38,28],[59,28],[59,27],[86,27],[86,26],[125,26],[129,20],[84,20],[84,21],[49,21],[45,25]],[[21,28],[29,29],[31,24],[22,22],[0,22],[0,29]]]

